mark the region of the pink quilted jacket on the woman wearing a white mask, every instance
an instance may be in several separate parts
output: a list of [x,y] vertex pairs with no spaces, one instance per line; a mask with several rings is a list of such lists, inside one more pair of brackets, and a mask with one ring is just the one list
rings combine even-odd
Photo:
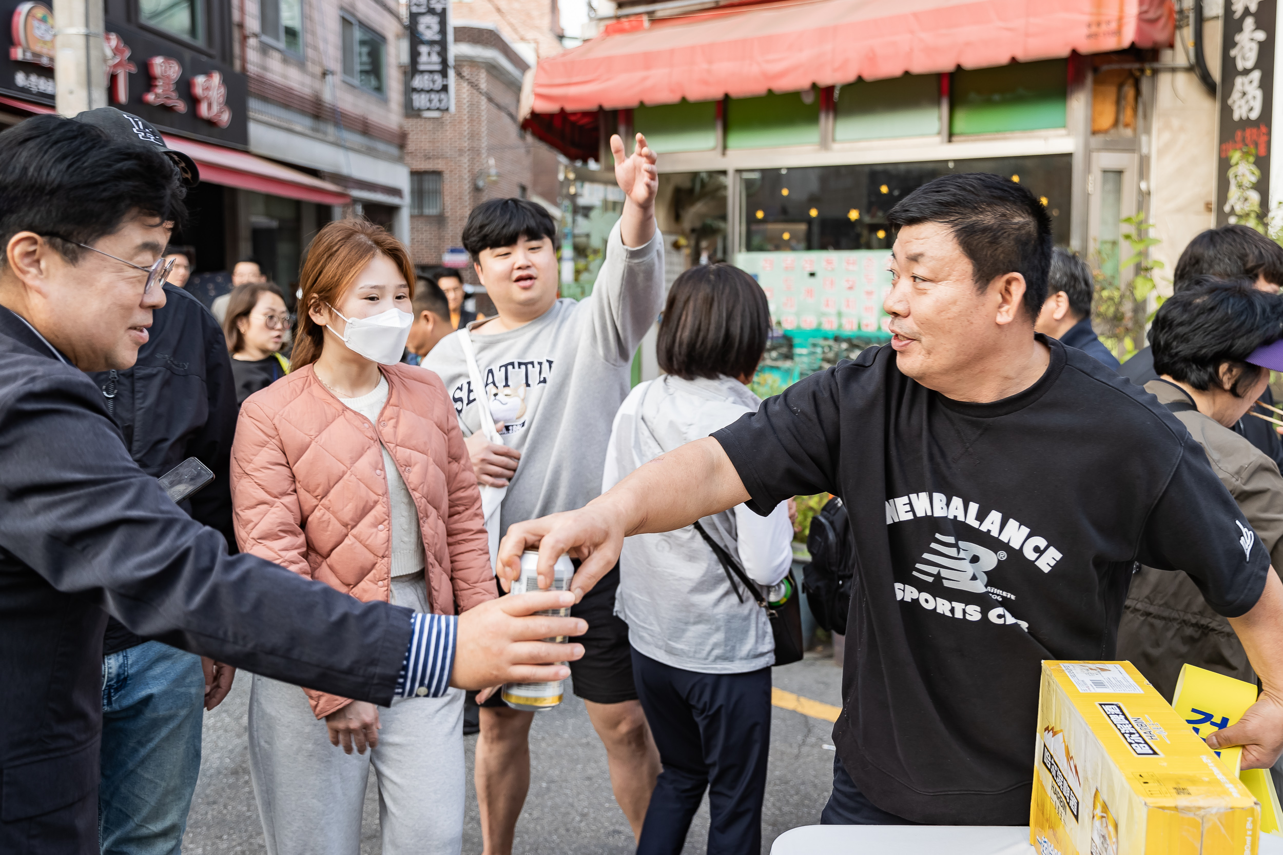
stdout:
[[[310,365],[250,395],[232,445],[241,551],[346,591],[387,601],[391,504],[380,442],[400,467],[423,532],[427,601],[455,614],[495,596],[481,494],[441,379],[384,365],[387,404],[371,424]],[[322,718],[345,697],[305,690]]]

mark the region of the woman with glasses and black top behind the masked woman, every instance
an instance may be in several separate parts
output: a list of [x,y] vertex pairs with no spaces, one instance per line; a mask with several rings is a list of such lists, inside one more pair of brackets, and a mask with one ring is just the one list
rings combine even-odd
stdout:
[[223,335],[232,355],[236,404],[290,373],[290,360],[281,355],[290,313],[269,282],[253,282],[232,290],[227,301]]

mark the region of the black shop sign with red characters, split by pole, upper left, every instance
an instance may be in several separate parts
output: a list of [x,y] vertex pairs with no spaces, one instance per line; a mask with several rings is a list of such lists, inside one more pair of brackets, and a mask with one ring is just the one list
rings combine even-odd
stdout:
[[[54,105],[51,0],[0,0],[10,45],[0,56],[0,94]],[[103,37],[108,103],[166,132],[248,147],[245,76],[178,42],[112,19]]]

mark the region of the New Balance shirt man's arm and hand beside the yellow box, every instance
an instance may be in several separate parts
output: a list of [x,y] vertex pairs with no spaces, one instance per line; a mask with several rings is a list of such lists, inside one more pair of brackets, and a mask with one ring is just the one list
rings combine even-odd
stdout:
[[1232,727],[1207,737],[1212,749],[1243,746],[1245,769],[1274,765],[1283,751],[1283,582],[1273,570],[1265,590],[1246,614],[1229,618],[1247,659],[1261,678],[1261,696]]

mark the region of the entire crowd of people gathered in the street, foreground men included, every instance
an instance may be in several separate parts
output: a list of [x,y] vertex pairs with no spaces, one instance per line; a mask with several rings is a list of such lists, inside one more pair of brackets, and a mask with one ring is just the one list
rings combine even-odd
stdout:
[[[639,852],[681,851],[706,792],[708,850],[758,851],[763,606],[801,596],[792,497],[817,492],[847,509],[857,592],[824,822],[1020,824],[1032,676],[1115,646],[1168,693],[1187,661],[1259,679],[1209,743],[1277,760],[1283,249],[1256,232],[1196,238],[1119,367],[1043,205],[946,176],[892,212],[892,342],[763,403],[762,290],[712,264],[666,292],[642,135],[612,140],[625,203],[590,297],[558,296],[548,212],[500,199],[462,235],[493,317],[346,219],[312,241],[291,320],[251,261],[213,313],[183,292],[172,153],[122,119],[0,135],[0,677],[78,710],[46,710],[74,751],[27,760],[49,783],[5,801],[6,851],[177,852],[235,667],[273,855],[355,852],[371,769],[385,852],[458,852],[470,710],[485,851],[511,852],[536,717],[495,690],[559,677]],[[82,191],[68,163],[103,176]],[[99,256],[121,267],[86,285]],[[663,376],[630,388],[657,315]],[[174,508],[155,478],[187,458],[213,481]],[[527,549],[544,576],[572,551],[574,605],[504,596]],[[570,617],[518,627],[554,605]],[[30,706],[0,770],[49,727]]]

